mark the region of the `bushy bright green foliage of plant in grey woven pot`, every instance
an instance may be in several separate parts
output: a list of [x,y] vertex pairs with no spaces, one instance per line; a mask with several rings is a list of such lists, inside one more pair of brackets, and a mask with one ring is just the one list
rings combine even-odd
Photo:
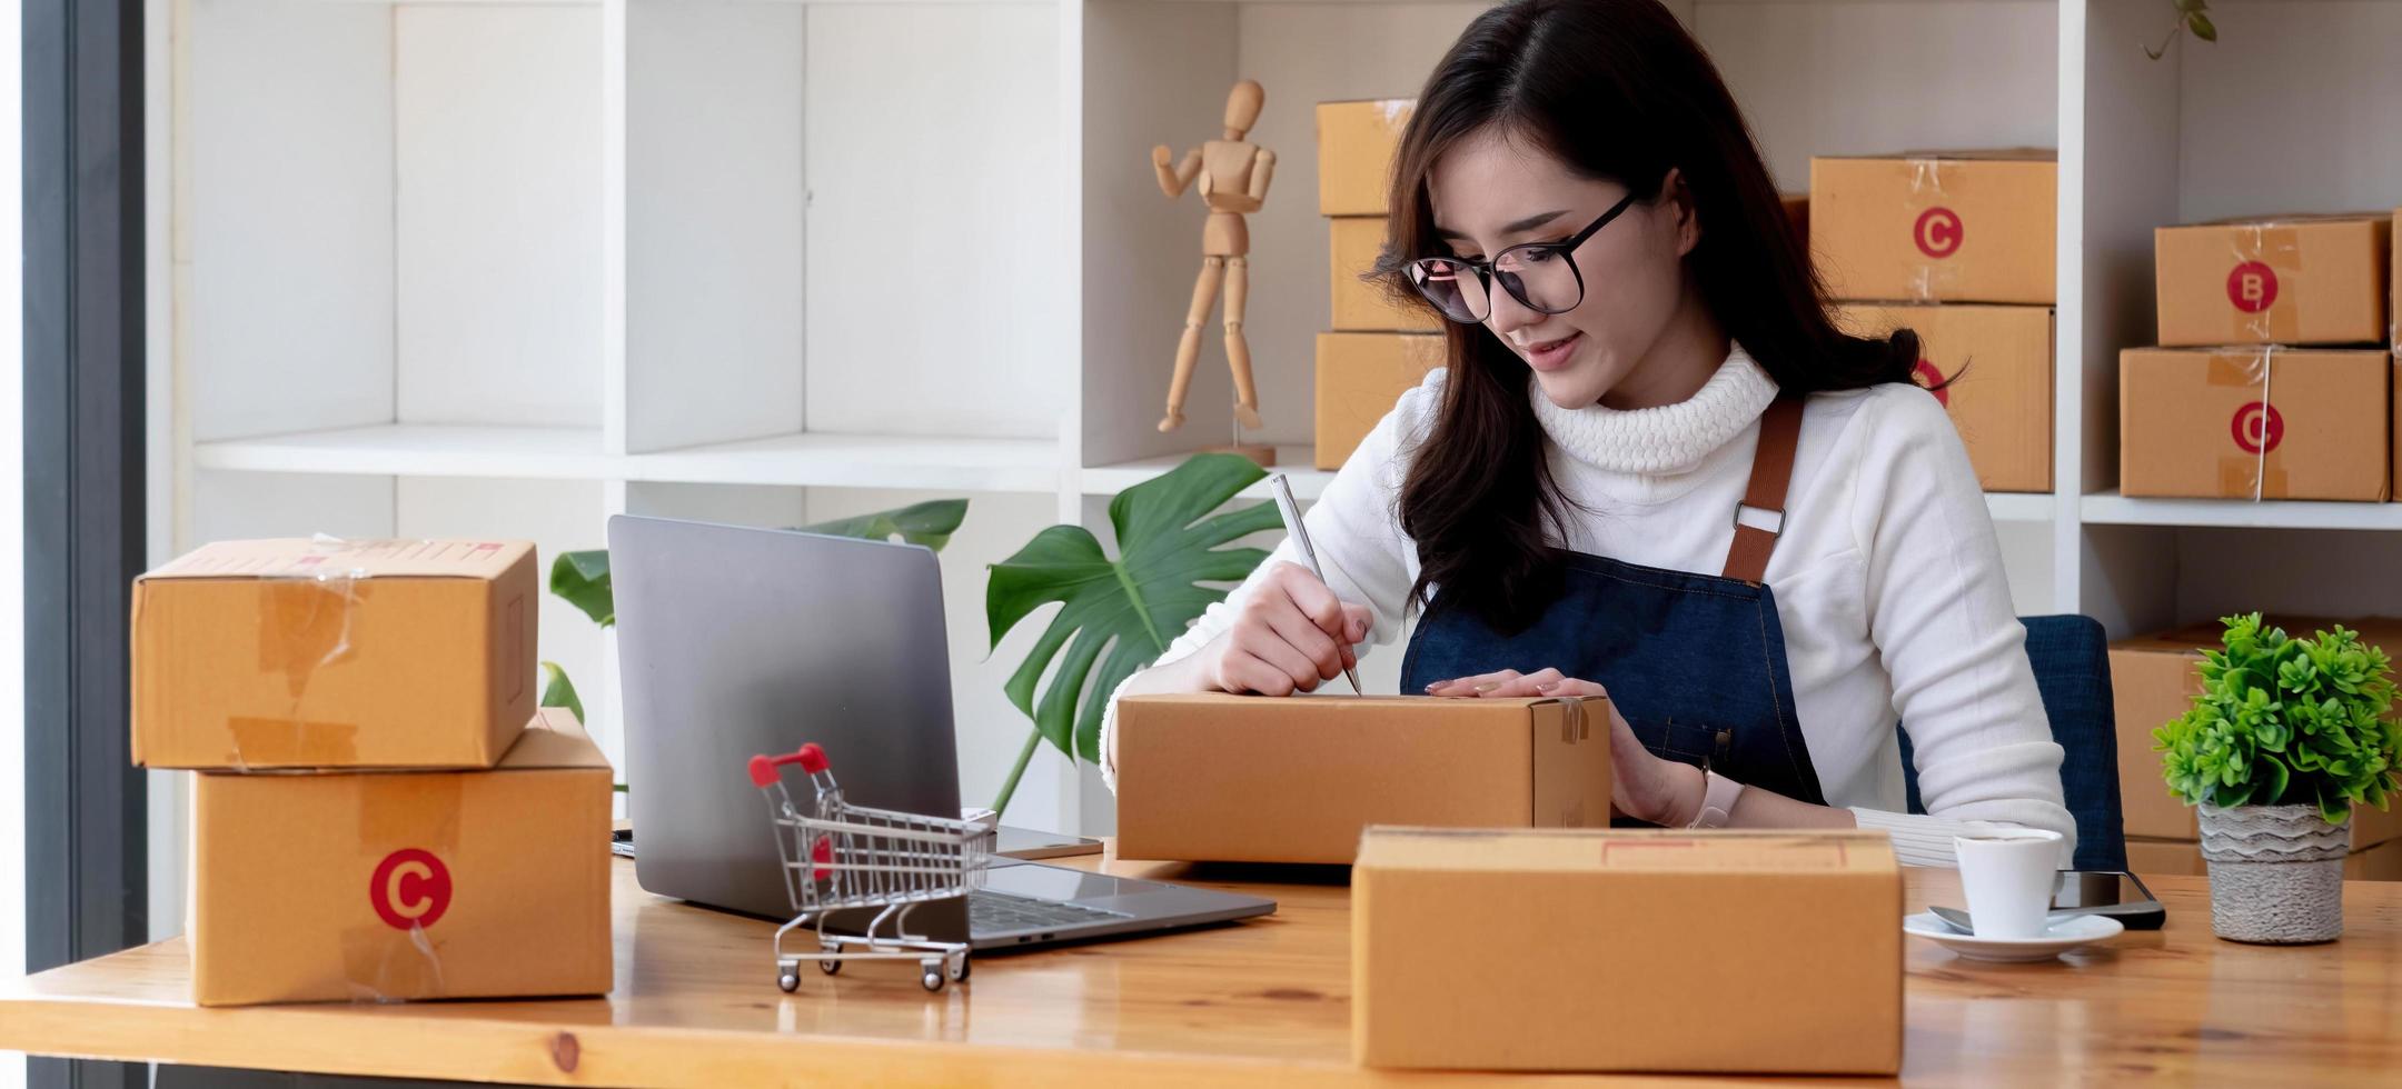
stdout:
[[2337,626],[2287,638],[2260,614],[2227,616],[2224,650],[2203,655],[2203,693],[2152,732],[2169,792],[2188,804],[2385,808],[2395,782],[2392,667]]

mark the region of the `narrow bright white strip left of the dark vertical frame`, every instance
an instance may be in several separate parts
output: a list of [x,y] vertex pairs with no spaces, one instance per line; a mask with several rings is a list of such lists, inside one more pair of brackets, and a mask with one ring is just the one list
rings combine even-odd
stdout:
[[[0,0],[0,979],[24,974],[24,146],[17,0]],[[24,1055],[0,1053],[0,1089]]]

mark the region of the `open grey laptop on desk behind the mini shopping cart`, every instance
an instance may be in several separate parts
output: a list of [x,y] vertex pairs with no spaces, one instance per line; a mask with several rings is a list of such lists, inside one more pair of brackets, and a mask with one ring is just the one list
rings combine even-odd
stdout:
[[[627,816],[644,890],[790,919],[759,753],[826,751],[843,799],[958,816],[942,568],[918,544],[670,518],[608,523]],[[807,782],[785,782],[795,801]],[[1273,900],[992,859],[910,931],[1009,950],[1275,911]],[[843,919],[836,919],[843,931]]]

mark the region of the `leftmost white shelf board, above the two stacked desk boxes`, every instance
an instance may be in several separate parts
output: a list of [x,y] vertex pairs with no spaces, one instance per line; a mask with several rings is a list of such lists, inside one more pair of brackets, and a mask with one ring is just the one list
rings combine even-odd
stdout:
[[377,425],[204,441],[192,446],[192,465],[377,477],[603,480],[610,458],[600,453],[598,429]]

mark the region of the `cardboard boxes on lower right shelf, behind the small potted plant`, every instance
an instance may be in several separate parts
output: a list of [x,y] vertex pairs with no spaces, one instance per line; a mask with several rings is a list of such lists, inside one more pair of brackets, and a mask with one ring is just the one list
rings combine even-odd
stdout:
[[[2289,633],[2325,631],[2337,621],[2270,616]],[[2342,621],[2364,640],[2402,652],[2402,621]],[[2219,624],[2195,624],[2157,636],[2114,643],[2109,650],[2111,710],[2119,722],[2119,808],[2126,828],[2128,868],[2145,876],[2203,873],[2200,828],[2193,806],[2169,794],[2159,775],[2152,732],[2181,717],[2203,691],[2195,667],[2205,648],[2219,645]],[[2402,806],[2352,813],[2347,878],[2402,880]]]

